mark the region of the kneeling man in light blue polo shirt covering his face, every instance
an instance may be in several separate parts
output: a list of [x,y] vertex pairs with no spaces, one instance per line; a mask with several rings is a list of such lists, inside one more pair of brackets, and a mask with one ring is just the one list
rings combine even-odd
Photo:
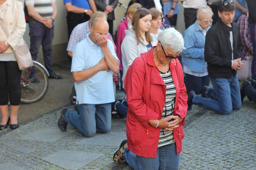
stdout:
[[113,43],[106,39],[109,25],[103,18],[95,18],[86,38],[73,51],[71,72],[75,81],[77,112],[62,108],[58,127],[66,132],[67,124],[85,137],[93,137],[96,130],[109,132],[111,103],[115,101],[112,71],[119,71],[119,60]]

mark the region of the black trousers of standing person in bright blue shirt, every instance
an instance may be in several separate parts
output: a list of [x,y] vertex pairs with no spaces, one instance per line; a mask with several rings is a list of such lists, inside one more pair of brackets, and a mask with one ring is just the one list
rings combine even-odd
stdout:
[[68,35],[70,37],[73,29],[75,26],[77,26],[80,23],[86,22],[90,19],[89,15],[83,14],[83,15],[78,15],[78,14],[73,14],[73,13],[68,13],[67,15],[67,24],[68,24]]

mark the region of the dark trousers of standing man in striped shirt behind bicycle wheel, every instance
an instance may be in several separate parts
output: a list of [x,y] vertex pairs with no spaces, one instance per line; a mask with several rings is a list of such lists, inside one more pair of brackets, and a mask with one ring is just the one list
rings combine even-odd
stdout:
[[[29,36],[30,36],[30,53],[32,59],[37,61],[37,54],[42,44],[44,65],[49,74],[53,73],[52,67],[52,44],[54,37],[54,25],[52,28],[47,28],[43,23],[29,17]],[[31,75],[34,75],[35,68],[33,67]]]

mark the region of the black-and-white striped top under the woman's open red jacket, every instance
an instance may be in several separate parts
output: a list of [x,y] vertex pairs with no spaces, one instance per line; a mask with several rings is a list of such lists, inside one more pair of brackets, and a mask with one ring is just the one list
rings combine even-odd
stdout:
[[[175,97],[176,97],[176,88],[172,79],[170,69],[168,70],[167,74],[160,72],[160,75],[166,84],[166,100],[165,100],[165,106],[163,107],[163,112],[162,112],[162,119],[163,119],[173,115]],[[158,147],[169,145],[173,142],[175,142],[173,137],[173,131],[163,132],[163,129],[161,129]]]

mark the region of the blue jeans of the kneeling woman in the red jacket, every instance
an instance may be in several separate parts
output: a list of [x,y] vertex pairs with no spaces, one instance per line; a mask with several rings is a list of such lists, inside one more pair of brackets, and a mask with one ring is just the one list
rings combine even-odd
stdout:
[[180,166],[180,153],[176,154],[176,143],[159,147],[156,158],[135,155],[128,148],[125,149],[124,157],[135,170],[177,170]]

